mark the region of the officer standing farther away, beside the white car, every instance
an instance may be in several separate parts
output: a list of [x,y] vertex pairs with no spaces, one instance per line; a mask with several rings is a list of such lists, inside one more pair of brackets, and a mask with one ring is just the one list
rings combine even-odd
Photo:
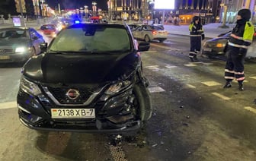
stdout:
[[203,25],[200,23],[200,17],[194,16],[189,25],[190,31],[190,53],[188,57],[191,62],[197,61],[197,54],[201,51],[201,42],[204,39]]

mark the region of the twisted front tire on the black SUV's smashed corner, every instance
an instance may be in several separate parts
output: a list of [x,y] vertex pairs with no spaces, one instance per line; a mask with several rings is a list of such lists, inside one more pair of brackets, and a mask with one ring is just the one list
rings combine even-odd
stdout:
[[146,122],[151,118],[153,111],[149,90],[143,84],[136,84],[133,93],[136,96],[139,118],[142,122]]

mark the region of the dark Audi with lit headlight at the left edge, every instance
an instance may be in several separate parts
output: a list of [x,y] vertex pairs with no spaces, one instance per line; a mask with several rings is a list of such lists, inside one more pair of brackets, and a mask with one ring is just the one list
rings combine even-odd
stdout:
[[34,28],[11,27],[0,29],[0,63],[24,63],[40,53],[44,39]]

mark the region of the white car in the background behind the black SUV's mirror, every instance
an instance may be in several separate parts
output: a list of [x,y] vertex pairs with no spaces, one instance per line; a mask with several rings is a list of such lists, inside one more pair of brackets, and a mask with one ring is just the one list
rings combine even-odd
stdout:
[[132,32],[134,38],[142,39],[146,42],[157,39],[160,43],[162,43],[165,41],[165,39],[167,39],[168,36],[168,31],[163,27],[149,24],[139,25],[136,27],[136,29],[132,30]]

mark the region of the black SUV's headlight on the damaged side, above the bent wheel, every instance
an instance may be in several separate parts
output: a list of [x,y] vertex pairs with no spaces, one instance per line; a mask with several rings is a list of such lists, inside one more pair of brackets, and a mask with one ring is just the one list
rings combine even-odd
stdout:
[[117,82],[117,84],[111,85],[105,91],[105,94],[114,95],[116,93],[119,93],[121,90],[125,89],[126,87],[129,87],[130,84],[132,84],[132,81],[130,81],[130,80],[123,80],[123,81]]

